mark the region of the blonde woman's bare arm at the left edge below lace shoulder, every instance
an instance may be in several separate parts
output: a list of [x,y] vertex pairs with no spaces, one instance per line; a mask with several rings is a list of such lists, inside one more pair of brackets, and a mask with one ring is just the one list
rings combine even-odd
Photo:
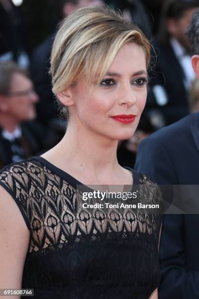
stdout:
[[21,288],[29,235],[16,202],[0,186],[0,289]]

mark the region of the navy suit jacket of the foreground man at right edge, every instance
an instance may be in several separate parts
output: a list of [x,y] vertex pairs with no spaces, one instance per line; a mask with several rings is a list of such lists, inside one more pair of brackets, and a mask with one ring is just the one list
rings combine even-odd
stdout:
[[[199,185],[199,112],[144,139],[135,169],[158,184]],[[164,215],[159,258],[159,299],[199,299],[198,214]]]

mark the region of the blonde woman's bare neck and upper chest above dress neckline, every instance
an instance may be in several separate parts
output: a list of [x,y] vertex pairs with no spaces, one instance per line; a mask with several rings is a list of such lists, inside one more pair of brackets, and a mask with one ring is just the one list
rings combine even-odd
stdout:
[[86,182],[93,184],[105,181],[117,184],[121,171],[126,171],[118,163],[117,146],[117,140],[110,140],[83,126],[77,128],[69,123],[60,143],[42,157],[81,182],[85,178]]

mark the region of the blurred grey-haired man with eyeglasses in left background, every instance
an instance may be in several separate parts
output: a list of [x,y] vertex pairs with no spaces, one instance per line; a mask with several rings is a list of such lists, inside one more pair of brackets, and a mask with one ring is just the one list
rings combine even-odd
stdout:
[[38,154],[44,129],[36,118],[39,97],[17,64],[0,63],[0,168]]

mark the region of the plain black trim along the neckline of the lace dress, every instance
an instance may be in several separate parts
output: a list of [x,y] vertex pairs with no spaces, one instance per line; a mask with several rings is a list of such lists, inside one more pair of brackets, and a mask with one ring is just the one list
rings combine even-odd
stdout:
[[[77,185],[86,186],[85,184],[83,184],[79,180],[77,180],[75,177],[73,177],[72,175],[70,175],[68,172],[63,171],[59,167],[57,167],[54,164],[50,163],[45,158],[43,158],[41,156],[34,156],[34,157],[32,157],[32,159],[40,161],[41,164],[43,164],[44,166],[46,166],[50,170],[54,171],[60,177],[62,177],[66,181],[68,181],[71,185],[73,185],[73,186],[77,186]],[[134,186],[140,184],[139,183],[139,173],[137,171],[135,171],[134,169],[128,167],[128,166],[125,166],[123,168],[130,170],[131,173],[132,173],[132,176],[133,176],[132,190],[133,190]]]

